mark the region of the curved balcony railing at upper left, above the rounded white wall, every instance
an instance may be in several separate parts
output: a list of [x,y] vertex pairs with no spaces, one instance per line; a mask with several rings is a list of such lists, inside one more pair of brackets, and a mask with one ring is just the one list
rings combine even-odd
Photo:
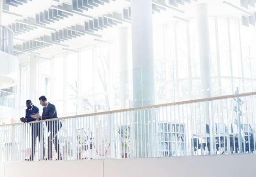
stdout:
[[0,26],[0,51],[13,54],[13,31]]

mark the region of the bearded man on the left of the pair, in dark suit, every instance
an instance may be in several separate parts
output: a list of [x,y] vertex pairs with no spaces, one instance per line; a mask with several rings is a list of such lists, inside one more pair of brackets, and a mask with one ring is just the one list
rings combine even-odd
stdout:
[[[32,131],[32,133],[31,133],[31,135],[32,135],[32,138],[31,138],[32,139],[32,148],[31,148],[32,152],[31,152],[30,158],[26,159],[26,160],[34,160],[35,146],[36,146],[37,137],[39,139],[39,142],[40,142],[40,137],[41,137],[40,136],[40,123],[38,123],[38,122],[33,123],[33,121],[35,121],[37,119],[32,118],[30,115],[31,114],[38,114],[39,109],[38,109],[38,107],[33,105],[31,100],[26,101],[26,106],[27,106],[26,116],[25,116],[25,118],[24,117],[20,118],[20,121],[22,121],[24,123],[25,122],[31,122],[30,123],[30,128],[31,128],[31,131]],[[44,144],[44,141],[43,141],[43,144]],[[44,156],[44,153],[45,153],[45,150],[44,150],[44,147],[43,147],[43,156]]]

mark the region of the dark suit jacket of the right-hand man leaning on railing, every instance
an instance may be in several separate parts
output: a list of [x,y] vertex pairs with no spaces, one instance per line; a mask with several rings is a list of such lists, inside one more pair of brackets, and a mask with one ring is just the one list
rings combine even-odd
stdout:
[[[42,114],[42,119],[52,119],[52,118],[58,118],[57,116],[57,111],[55,105],[49,103],[47,107],[43,107],[43,114]],[[48,131],[59,131],[61,129],[62,124],[59,120],[54,120],[50,122],[46,122],[47,129]]]

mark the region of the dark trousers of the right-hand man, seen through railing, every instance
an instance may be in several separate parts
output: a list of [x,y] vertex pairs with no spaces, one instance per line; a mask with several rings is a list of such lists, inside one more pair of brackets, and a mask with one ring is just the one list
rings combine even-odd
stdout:
[[57,153],[57,159],[61,160],[62,155],[61,155],[61,149],[60,149],[60,142],[59,142],[59,137],[58,133],[59,130],[61,129],[61,124],[59,125],[58,122],[47,122],[47,128],[48,131],[50,132],[50,135],[48,136],[48,159],[52,159],[52,144],[54,144],[54,148]]

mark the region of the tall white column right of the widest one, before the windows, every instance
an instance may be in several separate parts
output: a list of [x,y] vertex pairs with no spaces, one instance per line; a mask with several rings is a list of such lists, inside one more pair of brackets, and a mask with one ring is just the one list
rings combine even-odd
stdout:
[[197,24],[200,55],[200,71],[202,82],[202,97],[211,97],[210,71],[210,39],[208,25],[208,5],[197,5]]

